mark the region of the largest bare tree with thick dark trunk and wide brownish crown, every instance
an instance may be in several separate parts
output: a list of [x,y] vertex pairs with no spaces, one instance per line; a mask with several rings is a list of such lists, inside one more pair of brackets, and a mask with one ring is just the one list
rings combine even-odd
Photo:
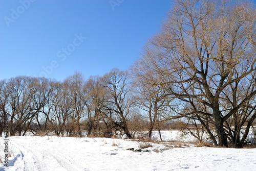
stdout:
[[183,114],[179,105],[180,115],[212,117],[220,146],[227,146],[224,123],[256,94],[253,89],[229,109],[221,103],[230,84],[254,81],[255,18],[246,2],[178,0],[145,48],[143,58],[154,76],[148,80],[165,86],[179,104],[190,105]]

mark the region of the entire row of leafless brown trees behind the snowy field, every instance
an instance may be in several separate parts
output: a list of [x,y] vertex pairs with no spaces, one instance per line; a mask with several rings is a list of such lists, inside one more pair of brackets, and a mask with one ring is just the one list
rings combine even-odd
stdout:
[[255,21],[246,1],[177,0],[129,70],[2,80],[1,116],[8,114],[11,135],[127,138],[143,129],[151,138],[183,119],[200,141],[204,132],[215,145],[241,146],[256,118]]

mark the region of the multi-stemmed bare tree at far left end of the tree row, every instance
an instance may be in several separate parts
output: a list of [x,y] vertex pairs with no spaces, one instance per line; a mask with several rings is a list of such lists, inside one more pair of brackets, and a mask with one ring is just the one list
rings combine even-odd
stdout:
[[36,112],[33,108],[33,95],[36,93],[35,78],[15,77],[8,80],[6,85],[7,105],[5,111],[10,116],[9,129],[13,136],[22,131],[25,135],[32,121],[35,119]]

